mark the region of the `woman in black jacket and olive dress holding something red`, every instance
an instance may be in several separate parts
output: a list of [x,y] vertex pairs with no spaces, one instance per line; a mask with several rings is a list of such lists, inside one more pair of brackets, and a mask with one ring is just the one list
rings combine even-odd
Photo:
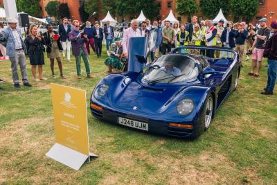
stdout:
[[53,30],[53,26],[51,24],[48,24],[46,29],[47,31],[44,33],[44,39],[46,44],[47,58],[50,59],[52,77],[55,78],[54,62],[56,59],[60,69],[60,77],[66,78],[62,73],[62,61],[60,60],[60,51],[62,51],[60,35],[58,35],[57,32]]

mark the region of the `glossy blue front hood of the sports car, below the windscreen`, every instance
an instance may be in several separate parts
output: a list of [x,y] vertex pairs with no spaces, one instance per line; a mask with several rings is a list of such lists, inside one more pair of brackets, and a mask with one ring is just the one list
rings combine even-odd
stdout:
[[143,85],[134,80],[120,92],[114,93],[113,107],[137,114],[162,114],[172,101],[188,88],[188,85],[156,86]]

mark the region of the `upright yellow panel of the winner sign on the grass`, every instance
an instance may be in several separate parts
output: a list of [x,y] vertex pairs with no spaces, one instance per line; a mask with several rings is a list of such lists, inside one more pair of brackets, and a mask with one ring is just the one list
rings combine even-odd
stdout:
[[51,84],[56,143],[89,156],[86,91]]

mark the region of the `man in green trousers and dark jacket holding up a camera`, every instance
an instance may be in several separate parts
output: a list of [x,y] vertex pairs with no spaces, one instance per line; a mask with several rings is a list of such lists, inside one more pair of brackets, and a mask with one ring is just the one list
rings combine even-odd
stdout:
[[81,77],[81,58],[84,60],[84,67],[86,68],[87,78],[94,78],[91,75],[91,70],[89,68],[89,59],[87,58],[87,47],[86,44],[89,42],[86,33],[82,33],[79,30],[80,25],[78,20],[74,20],[72,22],[74,30],[69,33],[69,39],[72,45],[72,53],[75,56],[76,60],[76,70],[77,70],[77,78],[82,79]]

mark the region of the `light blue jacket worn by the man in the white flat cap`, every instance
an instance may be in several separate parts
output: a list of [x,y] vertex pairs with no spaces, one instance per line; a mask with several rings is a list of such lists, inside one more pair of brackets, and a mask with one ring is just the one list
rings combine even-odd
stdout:
[[[25,53],[27,53],[26,46],[24,44],[24,41],[21,36],[21,30],[19,28],[16,28],[17,33],[20,36],[21,44],[22,44],[22,49],[24,50]],[[10,58],[15,57],[15,38],[12,35],[12,28],[8,26],[8,28],[5,28],[3,31],[3,36],[6,38],[6,49],[7,49],[7,55]]]

